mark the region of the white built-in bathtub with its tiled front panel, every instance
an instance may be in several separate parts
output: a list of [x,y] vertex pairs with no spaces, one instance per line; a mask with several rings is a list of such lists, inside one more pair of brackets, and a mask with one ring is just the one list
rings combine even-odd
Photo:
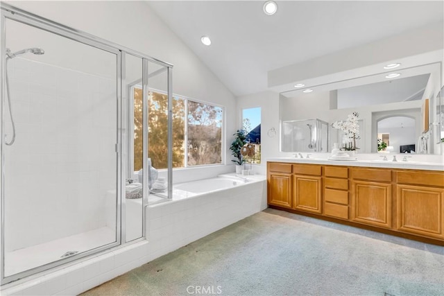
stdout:
[[266,209],[266,176],[232,174],[173,184],[173,199],[146,207],[146,238],[162,256]]

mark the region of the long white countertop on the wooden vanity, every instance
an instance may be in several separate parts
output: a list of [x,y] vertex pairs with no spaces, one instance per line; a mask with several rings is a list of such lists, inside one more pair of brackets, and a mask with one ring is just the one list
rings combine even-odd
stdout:
[[439,162],[391,162],[390,160],[329,160],[322,158],[271,157],[267,162],[289,162],[294,164],[326,164],[330,166],[366,166],[370,168],[404,168],[427,171],[444,171],[444,164]]

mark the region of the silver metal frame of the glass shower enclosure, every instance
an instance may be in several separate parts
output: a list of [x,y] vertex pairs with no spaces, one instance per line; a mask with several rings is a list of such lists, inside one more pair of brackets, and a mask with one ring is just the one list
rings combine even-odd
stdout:
[[[43,272],[45,270],[51,270],[52,268],[56,268],[61,265],[65,265],[66,263],[76,261],[78,259],[84,259],[87,256],[91,256],[92,254],[97,254],[99,252],[103,252],[105,250],[115,249],[115,247],[119,247],[122,245],[130,245],[133,243],[137,243],[139,241],[143,241],[146,239],[145,234],[145,228],[146,228],[146,210],[145,207],[148,204],[148,191],[146,191],[146,185],[144,186],[144,192],[143,192],[143,198],[142,198],[142,236],[140,238],[137,238],[133,241],[130,241],[126,243],[125,241],[125,235],[126,235],[126,223],[125,223],[125,198],[124,198],[124,192],[123,189],[125,188],[125,166],[128,161],[128,159],[124,159],[123,153],[126,152],[128,146],[125,143],[128,143],[128,133],[126,134],[126,137],[123,137],[123,133],[121,132],[123,128],[123,110],[125,112],[129,112],[129,108],[123,106],[123,96],[125,94],[122,93],[123,89],[123,83],[125,83],[125,58],[126,53],[129,53],[131,55],[134,55],[138,58],[142,58],[143,67],[144,67],[144,81],[146,81],[146,85],[148,85],[148,77],[146,76],[146,73],[148,73],[148,69],[146,69],[146,65],[149,62],[154,62],[156,64],[160,64],[163,67],[167,68],[167,76],[168,76],[168,168],[169,168],[169,182],[168,182],[168,195],[169,198],[171,198],[172,194],[172,68],[173,65],[169,64],[167,62],[163,62],[161,60],[157,60],[155,58],[152,58],[149,55],[146,55],[144,53],[140,53],[139,51],[134,51],[133,49],[128,49],[125,46],[121,46],[119,44],[114,44],[113,42],[109,42],[108,40],[103,40],[99,37],[96,37],[94,35],[90,35],[89,33],[85,33],[83,31],[78,31],[74,28],[69,28],[68,26],[59,24],[55,21],[51,21],[49,19],[45,19],[43,17],[40,17],[38,15],[34,15],[30,12],[26,12],[25,10],[16,8],[15,6],[10,6],[6,3],[0,3],[0,10],[1,10],[1,19],[0,19],[0,67],[1,67],[1,80],[0,80],[0,94],[1,94],[1,104],[0,104],[0,112],[2,115],[1,118],[1,144],[0,144],[0,167],[1,167],[1,191],[0,191],[0,214],[1,214],[1,236],[0,236],[0,248],[1,248],[1,266],[0,266],[0,285],[8,284],[12,281],[17,281],[19,279],[23,279],[26,277],[29,277],[31,275],[35,275],[38,272]],[[19,272],[15,275],[8,275],[5,277],[5,245],[4,245],[4,230],[5,230],[5,192],[4,192],[4,181],[5,181],[5,170],[4,170],[4,148],[5,148],[5,141],[3,139],[4,135],[4,126],[5,126],[5,114],[4,114],[4,108],[3,108],[3,101],[6,96],[6,19],[10,19],[12,21],[18,21],[22,24],[26,24],[28,26],[33,26],[35,28],[41,29],[43,31],[47,31],[49,33],[53,33],[56,35],[60,35],[62,37],[66,37],[70,40],[74,40],[76,42],[80,42],[82,44],[86,44],[88,46],[93,46],[97,49],[101,49],[103,51],[108,51],[109,53],[113,53],[116,55],[117,58],[117,67],[116,67],[116,82],[117,82],[117,89],[116,89],[116,104],[117,104],[117,126],[116,126],[116,143],[115,143],[115,152],[116,152],[116,192],[117,192],[117,203],[116,203],[116,241],[113,243],[109,243],[107,245],[102,245],[100,247],[93,248],[91,250],[88,250],[86,252],[82,252],[80,254],[75,254],[73,256],[69,256],[65,259],[59,259],[58,261],[53,261],[51,263],[46,263],[44,265],[40,265],[36,268],[31,268],[29,270],[25,270],[23,272]],[[144,93],[144,106],[146,106],[147,98],[145,97]],[[145,114],[146,108],[144,107],[144,116],[147,116]],[[145,121],[144,121],[145,122]],[[144,139],[148,139],[148,129],[146,128],[146,125],[144,125]],[[146,167],[146,155],[147,151],[144,150],[144,168]],[[146,170],[144,170],[146,171]],[[145,184],[146,182],[144,182]]]

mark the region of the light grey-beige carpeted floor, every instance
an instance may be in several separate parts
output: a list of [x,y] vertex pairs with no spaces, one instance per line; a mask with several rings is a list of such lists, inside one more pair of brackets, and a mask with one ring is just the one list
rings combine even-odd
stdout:
[[266,209],[83,295],[444,295],[444,247]]

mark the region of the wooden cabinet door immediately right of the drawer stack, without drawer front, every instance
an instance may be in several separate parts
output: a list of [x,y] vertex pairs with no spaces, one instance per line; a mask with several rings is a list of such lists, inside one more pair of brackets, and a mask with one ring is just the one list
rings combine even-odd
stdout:
[[352,182],[352,220],[391,228],[391,183]]

